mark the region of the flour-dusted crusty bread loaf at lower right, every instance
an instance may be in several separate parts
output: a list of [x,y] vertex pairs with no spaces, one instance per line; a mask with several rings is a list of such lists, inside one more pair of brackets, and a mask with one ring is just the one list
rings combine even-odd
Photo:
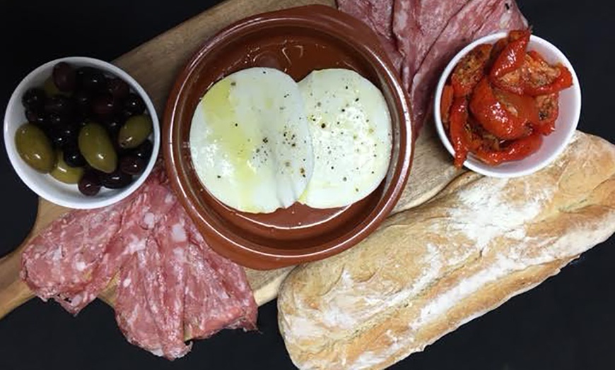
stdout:
[[464,174],[363,243],[293,270],[279,325],[301,369],[382,369],[615,232],[615,146],[577,133],[529,177]]

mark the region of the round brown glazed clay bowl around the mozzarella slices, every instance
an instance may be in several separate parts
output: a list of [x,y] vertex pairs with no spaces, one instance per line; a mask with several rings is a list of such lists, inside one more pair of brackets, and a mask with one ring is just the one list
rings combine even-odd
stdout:
[[[254,66],[278,68],[295,80],[315,69],[351,68],[375,83],[393,124],[392,160],[380,187],[346,208],[296,204],[267,215],[240,213],[213,198],[192,167],[192,114],[213,83]],[[171,185],[211,247],[241,265],[265,270],[332,256],[373,232],[404,189],[411,138],[409,103],[377,36],[334,8],[303,6],[246,18],[204,44],[170,93],[162,148]]]

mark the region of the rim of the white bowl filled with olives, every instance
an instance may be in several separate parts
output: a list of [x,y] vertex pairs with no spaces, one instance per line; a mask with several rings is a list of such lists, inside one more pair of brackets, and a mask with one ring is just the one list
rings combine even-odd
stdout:
[[[16,107],[16,105],[21,105],[21,96],[18,95],[18,92],[25,90],[25,88],[30,84],[30,82],[33,79],[35,79],[40,73],[42,73],[42,71],[45,71],[46,69],[54,66],[55,64],[61,61],[65,61],[66,63],[74,63],[74,64],[81,63],[81,64],[98,65],[98,66],[105,68],[107,71],[109,71],[113,75],[119,78],[122,78],[122,80],[126,81],[130,85],[130,87],[133,88],[136,91],[136,93],[139,94],[139,96],[141,96],[141,98],[143,98],[146,104],[147,110],[148,110],[148,114],[150,115],[152,119],[153,149],[152,149],[152,154],[148,162],[148,165],[144,169],[144,172],[142,172],[141,175],[132,184],[130,184],[130,186],[124,189],[121,189],[121,191],[119,191],[115,195],[110,196],[108,198],[97,198],[96,196],[93,196],[91,198],[79,198],[76,201],[64,201],[62,199],[57,198],[56,196],[54,196],[53,191],[49,191],[49,189],[47,189],[47,187],[44,186],[44,184],[40,183],[39,181],[36,181],[35,179],[30,178],[28,174],[26,174],[23,171],[22,166],[24,166],[25,163],[18,162],[18,161],[21,161],[21,157],[19,157],[19,155],[17,154],[13,138],[12,137],[9,138],[7,135],[9,124],[10,124],[9,117],[11,116],[11,112],[13,109],[16,109],[14,108]],[[124,198],[127,198],[127,196],[129,196],[131,193],[134,193],[136,189],[139,189],[139,186],[141,186],[144,183],[144,181],[147,179],[154,165],[156,165],[156,160],[158,158],[158,152],[160,150],[160,124],[158,122],[158,114],[156,113],[156,109],[154,108],[153,102],[151,101],[151,98],[149,97],[149,95],[146,93],[144,88],[142,88],[141,85],[134,78],[132,78],[127,72],[122,70],[122,68],[119,68],[107,61],[90,58],[88,56],[66,56],[63,58],[48,61],[47,63],[38,66],[33,71],[28,73],[28,75],[25,76],[23,80],[21,80],[21,82],[17,85],[15,90],[13,90],[10,100],[8,100],[8,105],[6,105],[6,112],[4,114],[4,148],[8,155],[8,159],[11,161],[11,165],[13,166],[13,169],[15,169],[15,172],[17,172],[21,181],[23,181],[23,183],[26,186],[28,186],[28,188],[34,191],[41,198],[45,198],[45,200],[49,202],[52,202],[57,205],[61,205],[62,207],[66,207],[66,208],[74,208],[74,209],[102,208],[102,207],[106,207],[107,205],[112,205],[114,203],[122,201],[122,199]]]

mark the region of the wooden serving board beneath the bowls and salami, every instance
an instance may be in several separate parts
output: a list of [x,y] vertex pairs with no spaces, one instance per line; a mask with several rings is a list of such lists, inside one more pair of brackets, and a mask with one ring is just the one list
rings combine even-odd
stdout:
[[[158,117],[163,117],[165,102],[175,77],[192,54],[214,33],[247,16],[308,4],[335,6],[335,1],[228,0],[120,56],[113,63],[139,81],[153,100]],[[410,179],[394,213],[428,201],[461,173],[452,166],[450,155],[438,141],[433,125],[427,125],[416,142]],[[30,235],[16,251],[0,259],[0,318],[34,297],[33,292],[19,277],[23,247],[49,222],[67,211],[67,208],[40,199]],[[282,280],[291,270],[292,268],[269,271],[246,269],[259,305],[276,297]],[[112,283],[100,298],[112,304],[114,291],[115,286]]]

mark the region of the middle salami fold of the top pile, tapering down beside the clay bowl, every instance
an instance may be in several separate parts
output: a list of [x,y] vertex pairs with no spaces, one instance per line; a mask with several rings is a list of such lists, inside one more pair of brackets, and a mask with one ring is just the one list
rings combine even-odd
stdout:
[[392,30],[402,54],[402,81],[412,78],[450,18],[469,0],[395,0]]

